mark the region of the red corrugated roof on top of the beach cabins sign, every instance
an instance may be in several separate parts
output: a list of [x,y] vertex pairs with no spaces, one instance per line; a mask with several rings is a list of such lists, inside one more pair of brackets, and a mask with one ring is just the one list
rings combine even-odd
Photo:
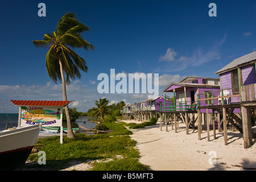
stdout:
[[24,101],[11,100],[16,106],[67,106],[72,101]]

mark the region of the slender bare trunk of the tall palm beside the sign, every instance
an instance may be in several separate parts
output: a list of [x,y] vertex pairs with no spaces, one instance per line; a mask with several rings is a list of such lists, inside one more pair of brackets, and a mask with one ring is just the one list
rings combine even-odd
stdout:
[[[60,57],[59,57],[59,64],[60,64],[60,74],[61,74],[61,80],[62,80],[63,100],[67,101],[66,82],[65,82],[65,77],[64,77],[63,67],[62,67],[62,63],[60,61]],[[65,106],[65,113],[66,113],[66,117],[67,117],[67,128],[68,128],[67,137],[75,138],[75,135],[74,135],[72,127],[71,127],[71,120],[70,120],[68,106]]]

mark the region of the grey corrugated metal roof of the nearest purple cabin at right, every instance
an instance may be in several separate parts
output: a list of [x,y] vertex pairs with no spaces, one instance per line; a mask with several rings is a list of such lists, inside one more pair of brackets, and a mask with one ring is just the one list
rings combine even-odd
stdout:
[[233,60],[231,63],[226,65],[224,68],[221,68],[219,71],[216,72],[216,75],[229,71],[233,68],[238,67],[241,64],[249,63],[250,61],[256,60],[256,52],[251,52],[245,56],[239,57],[235,60]]

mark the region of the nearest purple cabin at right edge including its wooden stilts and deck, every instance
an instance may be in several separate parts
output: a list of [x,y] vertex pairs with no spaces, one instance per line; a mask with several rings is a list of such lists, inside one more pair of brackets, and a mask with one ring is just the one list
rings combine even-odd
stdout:
[[[251,118],[255,121],[256,109],[256,52],[239,57],[216,72],[220,76],[220,90],[209,92],[207,97],[197,94],[197,113],[201,110],[217,111],[220,116],[216,119],[224,126],[224,141],[228,144],[227,125],[243,134],[244,148],[252,142]],[[217,96],[216,94],[217,93]],[[214,94],[213,97],[211,97]],[[205,102],[207,106],[203,105]],[[210,114],[208,115],[210,122]],[[214,115],[212,116],[214,118]],[[208,122],[208,123],[209,123]],[[213,120],[214,122],[214,120]],[[200,129],[200,127],[199,127]],[[200,131],[199,131],[200,135]],[[200,138],[200,136],[199,136]],[[209,129],[208,129],[208,140]]]

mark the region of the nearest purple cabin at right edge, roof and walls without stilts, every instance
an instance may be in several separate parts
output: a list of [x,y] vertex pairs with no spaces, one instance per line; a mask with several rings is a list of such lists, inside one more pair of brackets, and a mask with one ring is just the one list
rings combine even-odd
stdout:
[[228,104],[255,101],[256,52],[239,57],[216,72],[220,76],[220,88],[230,97]]

